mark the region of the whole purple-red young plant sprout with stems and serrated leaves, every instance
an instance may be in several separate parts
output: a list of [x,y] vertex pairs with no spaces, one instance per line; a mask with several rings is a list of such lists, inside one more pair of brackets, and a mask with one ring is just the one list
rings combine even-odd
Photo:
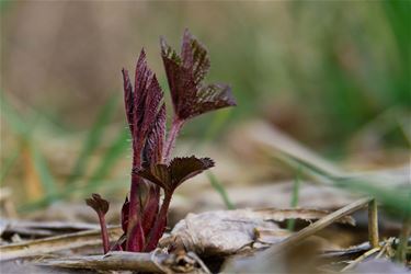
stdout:
[[[137,61],[134,87],[128,71],[123,69],[126,117],[133,137],[132,184],[129,197],[122,208],[124,235],[111,250],[150,252],[156,249],[167,227],[167,214],[175,189],[214,167],[209,158],[171,159],[181,128],[186,121],[203,113],[236,105],[229,85],[203,83],[209,69],[209,58],[204,46],[187,30],[183,35],[181,54],[161,38],[161,56],[173,105],[168,134],[163,92],[156,75],[147,66],[145,50]],[[160,189],[164,194],[161,206]],[[93,194],[93,199],[87,199],[87,204],[99,214],[106,253],[109,237],[104,215],[109,203],[102,201],[100,195]],[[104,204],[104,208],[100,204]]]

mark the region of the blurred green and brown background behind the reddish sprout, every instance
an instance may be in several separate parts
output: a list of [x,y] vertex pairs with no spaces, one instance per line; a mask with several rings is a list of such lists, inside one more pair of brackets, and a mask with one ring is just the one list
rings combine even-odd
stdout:
[[1,1],[0,180],[9,214],[91,192],[123,201],[130,150],[121,69],[133,70],[145,47],[168,93],[159,37],[179,48],[185,27],[208,48],[207,80],[230,83],[238,101],[193,121],[178,142],[176,153],[217,159],[202,187],[209,179],[218,190],[293,178],[248,150],[242,133],[260,122],[338,164],[409,163],[410,7]]

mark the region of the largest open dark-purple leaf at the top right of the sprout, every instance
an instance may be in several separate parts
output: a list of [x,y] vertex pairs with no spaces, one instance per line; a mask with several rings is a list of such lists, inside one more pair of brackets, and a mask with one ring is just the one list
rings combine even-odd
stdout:
[[180,119],[236,105],[227,84],[203,84],[209,69],[209,58],[205,47],[187,30],[184,32],[181,56],[163,38],[161,54],[174,112]]

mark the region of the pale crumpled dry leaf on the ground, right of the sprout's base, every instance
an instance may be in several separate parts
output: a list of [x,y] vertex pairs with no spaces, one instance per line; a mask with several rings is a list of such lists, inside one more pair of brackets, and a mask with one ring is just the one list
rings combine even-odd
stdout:
[[[184,248],[201,255],[229,255],[253,251],[265,246],[254,243],[276,243],[289,236],[274,221],[285,219],[319,219],[326,210],[316,209],[237,209],[202,214],[189,214],[179,221],[171,236],[160,241],[161,247]],[[354,224],[351,217],[342,222]],[[262,233],[263,231],[263,233]]]

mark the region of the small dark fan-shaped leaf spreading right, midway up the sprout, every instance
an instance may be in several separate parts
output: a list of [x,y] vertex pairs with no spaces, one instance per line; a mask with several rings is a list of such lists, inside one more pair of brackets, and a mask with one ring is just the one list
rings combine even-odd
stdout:
[[165,192],[172,193],[184,181],[213,167],[214,161],[212,159],[198,159],[192,156],[174,158],[170,164],[151,164],[137,171],[137,173],[150,182],[161,186]]

